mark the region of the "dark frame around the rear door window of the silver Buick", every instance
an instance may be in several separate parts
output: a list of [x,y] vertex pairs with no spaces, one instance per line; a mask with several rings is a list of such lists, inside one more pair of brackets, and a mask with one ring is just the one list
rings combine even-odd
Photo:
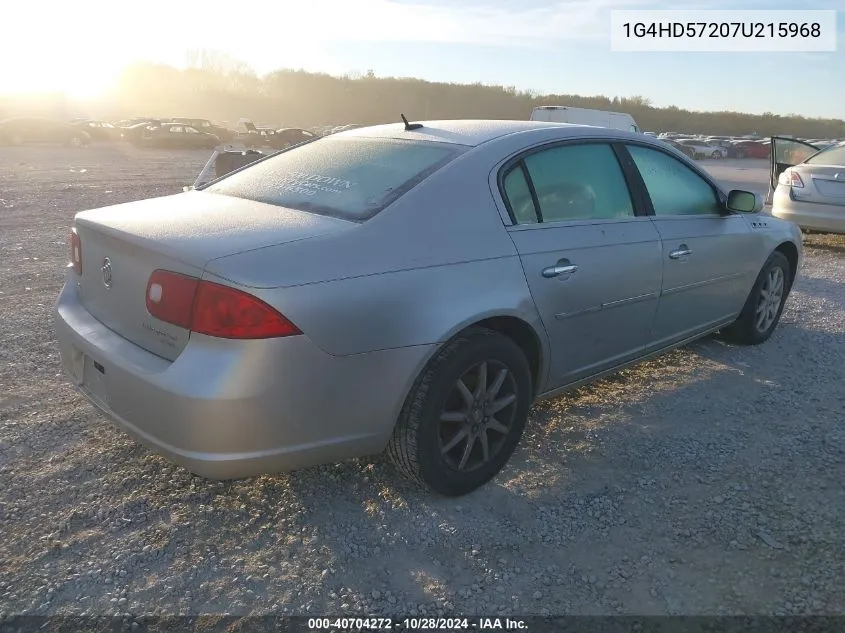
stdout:
[[[533,154],[539,154],[544,151],[572,145],[607,145],[609,147],[609,149],[613,152],[613,155],[616,157],[616,161],[619,164],[619,168],[622,172],[623,181],[625,182],[625,185],[628,188],[628,195],[631,198],[631,207],[633,209],[634,215],[618,218],[581,218],[578,220],[556,220],[552,222],[543,221],[542,209],[540,208],[540,203],[537,199],[537,192],[534,189],[534,182],[531,178],[528,166],[525,164],[525,159]],[[537,222],[521,224],[516,220],[516,215],[513,212],[510,200],[508,199],[507,193],[505,191],[505,177],[514,169],[522,170],[523,177],[525,178],[526,183],[528,185],[528,190],[531,192],[531,200],[534,204],[534,212],[537,216]],[[511,222],[511,225],[508,227],[510,229],[543,228],[573,224],[626,222],[636,220],[637,218],[647,217],[649,209],[652,208],[650,206],[650,200],[643,198],[644,187],[642,186],[642,178],[640,177],[639,172],[636,169],[636,165],[634,164],[631,155],[626,150],[624,150],[624,147],[621,147],[619,139],[616,138],[578,138],[555,140],[550,142],[544,142],[539,145],[534,145],[532,147],[523,149],[516,153],[514,156],[508,158],[500,167],[498,167],[496,174],[496,186],[498,189],[498,194],[505,205],[505,209]],[[646,202],[648,202],[648,205],[646,204]]]

